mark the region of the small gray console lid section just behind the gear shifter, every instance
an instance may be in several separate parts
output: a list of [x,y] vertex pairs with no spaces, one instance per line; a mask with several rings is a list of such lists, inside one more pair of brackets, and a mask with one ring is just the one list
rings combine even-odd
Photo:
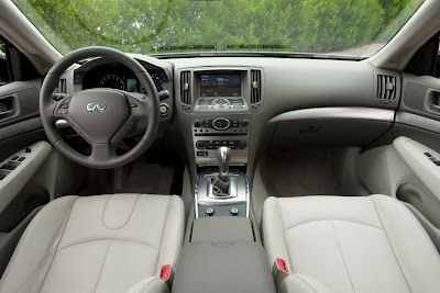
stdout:
[[194,221],[191,243],[254,241],[251,221],[246,217],[212,216]]

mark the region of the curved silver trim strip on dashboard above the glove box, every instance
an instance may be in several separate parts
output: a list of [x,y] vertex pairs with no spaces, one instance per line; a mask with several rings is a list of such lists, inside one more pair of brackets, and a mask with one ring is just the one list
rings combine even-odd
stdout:
[[282,122],[290,120],[318,120],[318,119],[353,119],[353,120],[372,120],[393,122],[394,110],[364,108],[364,106],[326,106],[310,108],[289,111],[276,115],[268,122]]

